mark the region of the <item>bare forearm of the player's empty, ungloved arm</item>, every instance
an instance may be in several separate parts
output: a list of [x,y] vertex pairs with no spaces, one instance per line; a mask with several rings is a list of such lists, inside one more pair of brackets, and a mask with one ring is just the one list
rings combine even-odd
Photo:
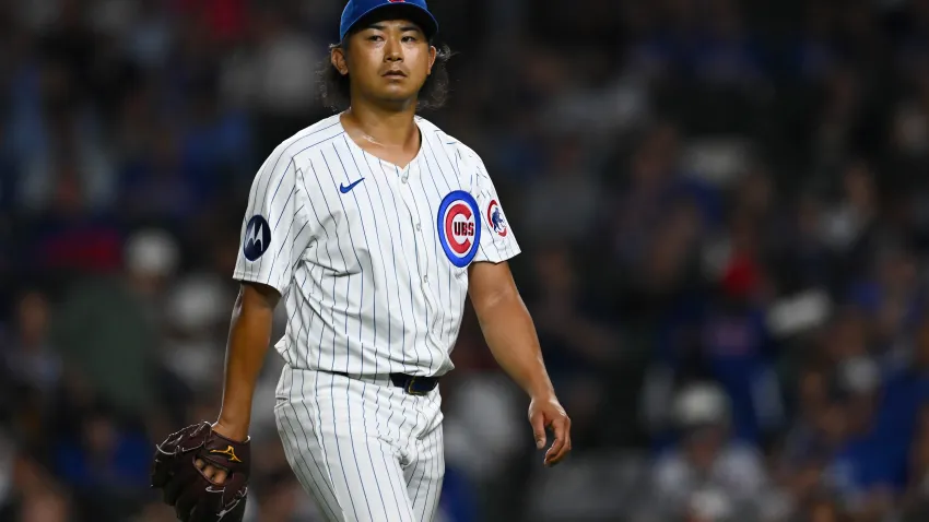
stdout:
[[477,305],[475,311],[484,340],[501,368],[530,396],[553,394],[536,325],[515,288],[492,302]]

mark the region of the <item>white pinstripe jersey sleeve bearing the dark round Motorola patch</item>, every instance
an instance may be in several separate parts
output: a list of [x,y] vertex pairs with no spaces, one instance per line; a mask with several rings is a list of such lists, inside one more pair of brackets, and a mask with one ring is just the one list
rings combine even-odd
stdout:
[[282,144],[251,182],[233,278],[285,293],[293,269],[313,240],[307,194],[296,163]]

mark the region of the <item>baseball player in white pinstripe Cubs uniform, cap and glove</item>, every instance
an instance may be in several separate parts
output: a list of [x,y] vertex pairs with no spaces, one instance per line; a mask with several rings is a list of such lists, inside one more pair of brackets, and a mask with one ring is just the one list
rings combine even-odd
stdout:
[[256,176],[219,419],[155,453],[152,484],[179,519],[242,519],[252,393],[281,297],[278,429],[328,520],[433,520],[445,472],[438,382],[466,296],[531,399],[537,447],[554,436],[544,464],[571,451],[494,185],[473,151],[416,116],[446,85],[437,29],[424,0],[350,0],[326,86],[348,107],[283,142]]

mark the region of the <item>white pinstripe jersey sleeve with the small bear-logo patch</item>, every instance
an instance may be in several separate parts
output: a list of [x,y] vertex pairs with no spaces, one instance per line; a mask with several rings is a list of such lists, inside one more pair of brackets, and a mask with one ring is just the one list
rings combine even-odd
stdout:
[[480,159],[478,163],[477,191],[478,206],[481,209],[481,245],[474,261],[501,263],[515,258],[519,252],[519,244],[506,221],[503,204],[496,188]]

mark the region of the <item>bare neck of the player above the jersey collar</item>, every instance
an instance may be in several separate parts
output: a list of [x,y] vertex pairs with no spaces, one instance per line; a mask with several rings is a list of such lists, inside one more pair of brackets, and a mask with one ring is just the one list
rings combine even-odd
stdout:
[[415,104],[404,110],[384,110],[367,105],[352,105],[342,114],[342,126],[355,141],[395,151],[416,151],[419,128],[413,121]]

